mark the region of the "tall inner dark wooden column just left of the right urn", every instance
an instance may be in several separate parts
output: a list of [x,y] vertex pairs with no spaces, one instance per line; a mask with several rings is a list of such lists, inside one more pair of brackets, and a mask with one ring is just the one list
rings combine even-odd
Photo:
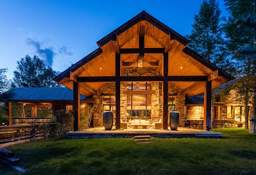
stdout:
[[164,53],[164,81],[163,81],[163,129],[168,129],[168,53]]

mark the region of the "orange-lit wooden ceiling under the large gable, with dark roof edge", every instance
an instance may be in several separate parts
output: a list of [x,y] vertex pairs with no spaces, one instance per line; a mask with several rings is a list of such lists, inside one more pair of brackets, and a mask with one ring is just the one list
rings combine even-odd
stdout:
[[[141,20],[142,14],[146,15],[146,20]],[[140,18],[137,20],[137,18]],[[218,70],[218,67],[203,59],[197,53],[187,48],[188,40],[180,36],[161,22],[156,24],[152,22],[153,17],[147,13],[141,13],[130,20],[131,24],[123,24],[115,32],[98,41],[99,49],[74,64],[71,68],[65,70],[55,78],[67,88],[73,89],[73,82],[70,78],[70,72],[75,77],[86,76],[115,76],[115,53],[119,49],[139,48],[139,37],[143,32],[145,48],[164,48],[168,52],[168,75],[169,76],[210,76],[212,72]],[[156,22],[158,22],[156,20]],[[159,26],[160,25],[160,26]],[[165,28],[161,27],[164,25]],[[166,32],[169,30],[169,33]],[[111,39],[110,39],[111,37]],[[139,54],[121,54],[121,76],[126,75],[126,70],[137,68],[139,65]],[[156,76],[162,76],[163,56],[159,53],[145,54],[143,57],[143,68],[149,67],[155,71]],[[224,75],[224,76],[222,76]],[[212,80],[212,88],[220,86],[232,79],[225,72]],[[170,82],[181,89],[189,96],[202,93],[205,89],[204,82]],[[104,82],[81,83],[80,92],[83,95],[91,95],[93,91],[104,86]]]

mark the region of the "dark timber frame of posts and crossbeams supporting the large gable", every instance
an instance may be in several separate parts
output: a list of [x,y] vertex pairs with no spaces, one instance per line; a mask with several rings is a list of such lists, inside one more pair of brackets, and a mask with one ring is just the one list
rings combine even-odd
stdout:
[[[164,56],[164,72],[163,76],[120,76],[120,55],[129,53],[139,53],[139,57],[143,57],[144,53],[161,53]],[[210,102],[211,102],[211,82],[207,76],[168,76],[168,53],[164,52],[164,48],[144,48],[144,34],[139,37],[139,48],[135,49],[119,49],[119,53],[115,53],[115,76],[93,76],[93,77],[77,77],[77,82],[73,84],[74,91],[74,114],[75,123],[74,130],[79,130],[80,110],[79,110],[79,82],[115,82],[115,128],[120,129],[120,82],[163,82],[163,123],[162,128],[168,129],[168,82],[205,82],[205,128],[210,130]]]

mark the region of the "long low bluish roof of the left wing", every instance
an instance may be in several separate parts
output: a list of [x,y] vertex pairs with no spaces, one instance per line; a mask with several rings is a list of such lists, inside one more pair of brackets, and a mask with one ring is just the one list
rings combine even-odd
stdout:
[[[5,98],[5,94],[9,93]],[[86,96],[80,95],[80,99]],[[0,101],[71,101],[73,90],[69,88],[48,87],[48,88],[13,88],[0,95]]]

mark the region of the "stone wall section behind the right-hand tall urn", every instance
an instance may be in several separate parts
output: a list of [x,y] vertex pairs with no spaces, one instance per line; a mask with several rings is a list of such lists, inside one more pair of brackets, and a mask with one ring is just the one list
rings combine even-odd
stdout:
[[179,111],[180,115],[179,126],[185,126],[185,95],[170,83],[168,85],[168,93],[174,94],[175,110]]

